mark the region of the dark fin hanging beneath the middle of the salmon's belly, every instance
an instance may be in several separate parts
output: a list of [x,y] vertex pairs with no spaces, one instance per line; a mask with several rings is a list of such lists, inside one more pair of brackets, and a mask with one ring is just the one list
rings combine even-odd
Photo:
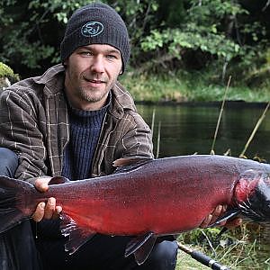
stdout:
[[134,254],[137,264],[142,265],[151,253],[157,237],[153,232],[149,232],[146,235],[139,236],[130,241],[126,247],[125,257]]

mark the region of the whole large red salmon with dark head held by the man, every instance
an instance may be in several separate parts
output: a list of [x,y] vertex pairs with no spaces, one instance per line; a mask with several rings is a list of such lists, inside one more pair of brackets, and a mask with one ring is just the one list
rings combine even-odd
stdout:
[[[131,160],[132,161],[132,160]],[[228,211],[215,224],[235,216],[270,220],[270,165],[238,157],[193,155],[148,159],[116,173],[80,181],[53,177],[40,193],[32,184],[0,176],[0,233],[31,219],[39,202],[55,197],[63,211],[61,232],[72,254],[95,233],[134,236],[125,257],[148,257],[158,236],[198,228],[217,205]]]

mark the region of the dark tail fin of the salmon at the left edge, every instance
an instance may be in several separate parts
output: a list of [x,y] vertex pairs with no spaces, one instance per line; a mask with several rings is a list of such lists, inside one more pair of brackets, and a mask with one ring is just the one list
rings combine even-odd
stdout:
[[27,218],[23,213],[27,191],[31,191],[31,184],[0,176],[0,233],[13,228]]

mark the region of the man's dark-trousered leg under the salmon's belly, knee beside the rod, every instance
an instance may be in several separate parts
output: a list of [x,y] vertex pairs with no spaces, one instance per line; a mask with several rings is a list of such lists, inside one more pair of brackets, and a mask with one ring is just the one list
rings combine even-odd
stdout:
[[147,261],[138,266],[133,256],[124,257],[130,237],[95,235],[73,255],[64,250],[66,239],[37,239],[37,247],[43,254],[43,266],[48,270],[173,270],[176,264],[175,241],[157,243]]

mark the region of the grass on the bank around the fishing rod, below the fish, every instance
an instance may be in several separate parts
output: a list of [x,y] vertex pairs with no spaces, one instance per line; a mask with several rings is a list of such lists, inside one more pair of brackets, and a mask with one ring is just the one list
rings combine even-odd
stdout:
[[[220,229],[203,229],[210,239],[215,239]],[[263,230],[260,226],[242,225],[238,229],[234,229],[225,233],[221,237],[221,241],[213,250],[210,248],[209,242],[202,237],[202,229],[194,229],[191,232],[186,232],[178,238],[178,240],[187,247],[192,247],[193,250],[199,250],[205,255],[218,261],[222,266],[228,266],[231,270],[270,270],[270,255],[268,245],[261,243]],[[266,235],[266,238],[268,236]],[[213,241],[214,242],[214,241]],[[223,243],[223,244],[222,244]],[[224,243],[229,243],[224,245]],[[202,266],[201,263],[195,261],[191,256],[179,251],[177,257],[176,270],[185,269],[210,269]]]

